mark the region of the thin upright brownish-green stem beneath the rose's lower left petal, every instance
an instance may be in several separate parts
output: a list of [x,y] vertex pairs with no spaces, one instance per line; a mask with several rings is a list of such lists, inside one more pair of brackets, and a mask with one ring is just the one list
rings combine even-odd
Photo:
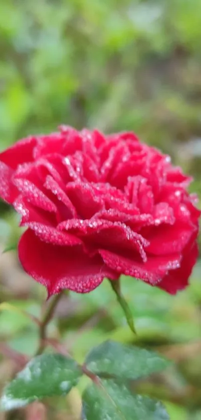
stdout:
[[39,343],[39,347],[38,347],[38,349],[36,351],[36,354],[35,354],[36,356],[41,354],[43,352],[45,346],[46,346],[45,341],[46,341],[47,326],[48,326],[49,321],[52,319],[54,310],[55,310],[56,305],[57,305],[58,301],[60,300],[61,296],[62,296],[62,292],[55,295],[52,298],[52,300],[51,300],[51,302],[50,302],[50,304],[49,304],[49,306],[48,306],[48,308],[47,308],[47,310],[46,310],[46,312],[45,312],[45,314],[44,314],[44,316],[43,316],[43,318],[40,322],[40,326],[39,326],[40,343]]

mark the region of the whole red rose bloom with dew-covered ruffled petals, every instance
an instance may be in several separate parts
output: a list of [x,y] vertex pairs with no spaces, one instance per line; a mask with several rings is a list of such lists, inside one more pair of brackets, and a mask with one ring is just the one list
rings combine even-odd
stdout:
[[49,296],[121,274],[169,293],[185,288],[200,217],[189,182],[133,133],[61,127],[0,154],[0,196],[27,226],[19,260]]

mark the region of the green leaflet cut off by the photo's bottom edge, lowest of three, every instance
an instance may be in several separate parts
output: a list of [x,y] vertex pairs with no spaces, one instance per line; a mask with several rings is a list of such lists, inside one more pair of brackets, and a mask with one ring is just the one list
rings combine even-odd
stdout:
[[83,393],[83,420],[169,420],[161,402],[133,394],[125,384],[103,380]]

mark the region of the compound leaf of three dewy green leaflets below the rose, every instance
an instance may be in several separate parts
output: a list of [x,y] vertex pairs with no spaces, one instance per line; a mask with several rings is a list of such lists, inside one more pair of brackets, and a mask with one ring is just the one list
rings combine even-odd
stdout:
[[[31,359],[4,388],[0,408],[7,411],[44,397],[65,395],[85,373],[93,381],[83,393],[86,420],[146,420],[148,417],[150,420],[168,420],[161,403],[133,394],[128,384],[129,379],[157,372],[166,365],[167,362],[153,352],[115,342],[92,349],[83,369],[61,354],[43,354]],[[101,372],[116,376],[118,381],[100,378]]]

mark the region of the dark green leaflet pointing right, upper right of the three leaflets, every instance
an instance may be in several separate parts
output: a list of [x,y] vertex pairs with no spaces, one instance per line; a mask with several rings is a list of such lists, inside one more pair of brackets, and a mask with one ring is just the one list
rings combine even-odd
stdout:
[[90,351],[85,364],[95,374],[106,373],[120,379],[137,379],[165,369],[170,362],[144,348],[105,341]]

